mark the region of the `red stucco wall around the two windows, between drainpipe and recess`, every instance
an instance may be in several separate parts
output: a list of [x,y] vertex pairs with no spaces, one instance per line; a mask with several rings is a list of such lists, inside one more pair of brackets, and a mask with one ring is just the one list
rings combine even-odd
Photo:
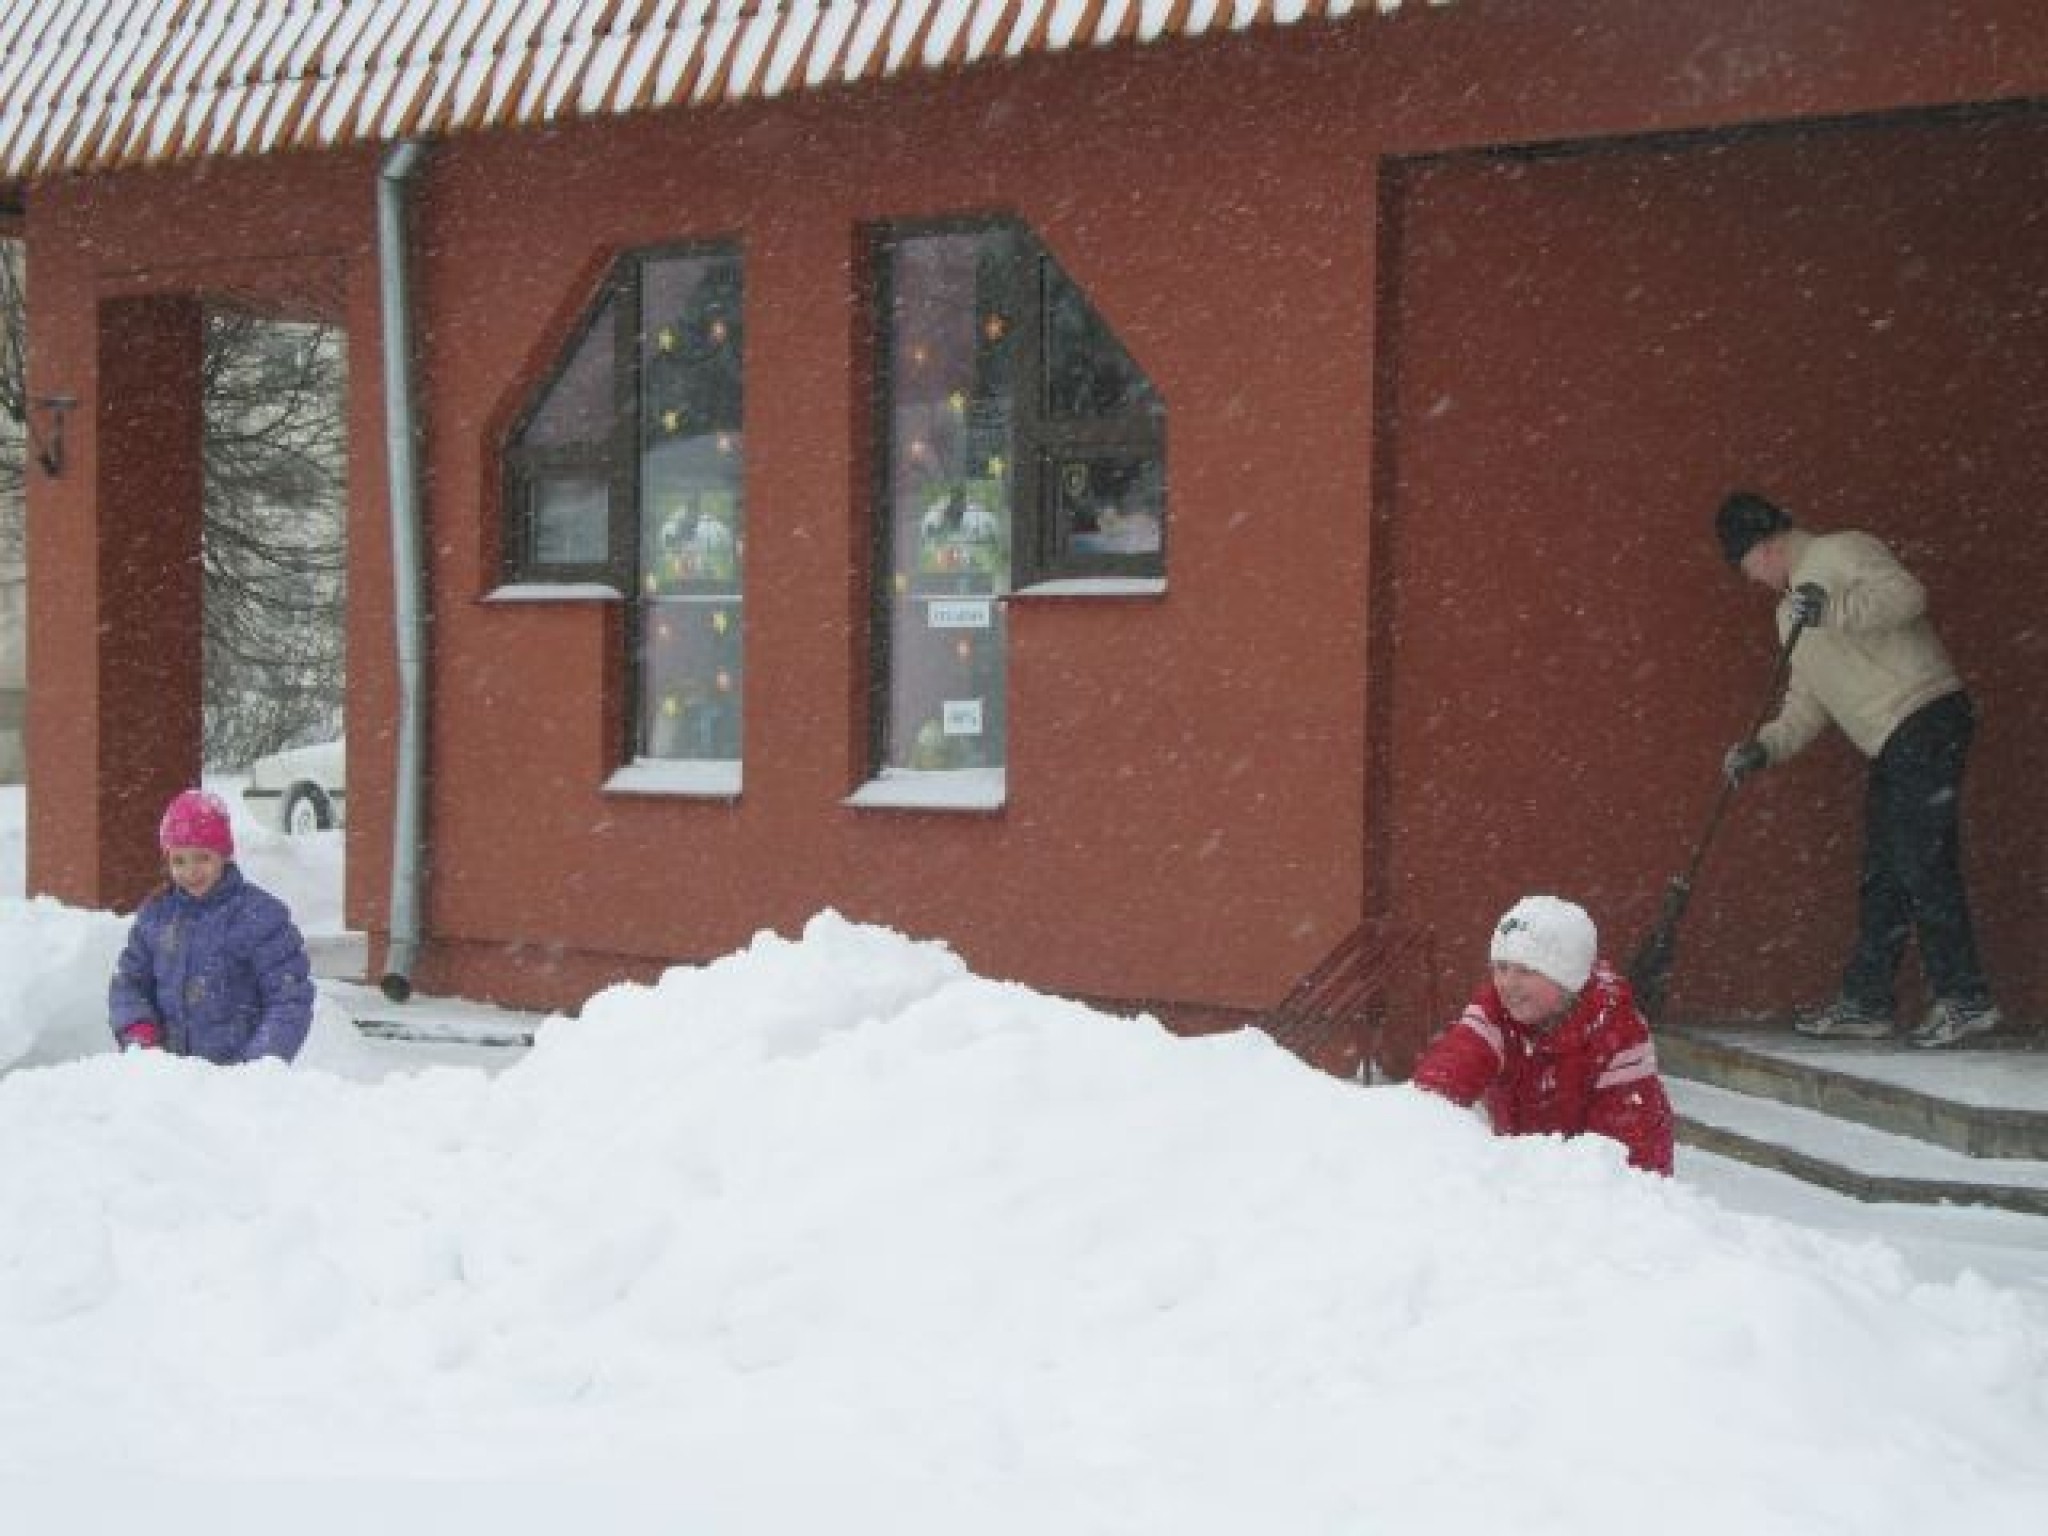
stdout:
[[[1372,270],[1348,209],[1372,168],[1247,129],[1229,152],[1243,174],[1292,168],[1325,209],[1276,229],[1260,201],[1210,197],[1163,135],[1167,74],[1106,78],[1108,111],[1053,70],[436,156],[434,834],[461,856],[436,860],[432,920],[479,946],[465,985],[506,938],[696,956],[834,905],[944,934],[995,973],[1253,1004],[1356,920],[1368,438],[1343,424],[1366,410]],[[1001,815],[852,811],[866,596],[850,571],[870,516],[858,231],[973,209],[1028,219],[1165,393],[1169,592],[1012,604]],[[616,616],[477,602],[494,584],[483,438],[528,387],[537,338],[586,297],[592,252],[725,233],[750,307],[745,795],[604,795]],[[1276,287],[1276,270],[1294,276]]]

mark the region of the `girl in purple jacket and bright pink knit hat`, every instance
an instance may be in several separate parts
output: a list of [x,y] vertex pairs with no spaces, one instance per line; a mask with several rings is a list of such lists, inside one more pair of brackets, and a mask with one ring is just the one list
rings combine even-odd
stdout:
[[313,979],[291,911],[242,879],[227,807],[188,788],[158,827],[170,877],[141,903],[109,989],[125,1051],[291,1061],[313,1022]]

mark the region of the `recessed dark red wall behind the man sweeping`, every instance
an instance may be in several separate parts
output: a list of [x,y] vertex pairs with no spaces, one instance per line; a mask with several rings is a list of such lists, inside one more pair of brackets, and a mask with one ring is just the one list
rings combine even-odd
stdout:
[[[1927,584],[1980,709],[1987,963],[2038,1010],[2048,117],[1460,158],[1407,188],[1395,903],[1473,934],[1548,883],[1626,956],[1769,678],[1769,602],[1710,535],[1747,485],[1878,532]],[[1831,995],[1862,774],[1829,733],[1737,799],[1673,1012]]]

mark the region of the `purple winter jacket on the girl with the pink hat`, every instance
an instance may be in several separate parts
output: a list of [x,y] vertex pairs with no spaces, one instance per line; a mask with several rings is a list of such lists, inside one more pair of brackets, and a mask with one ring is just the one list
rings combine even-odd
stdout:
[[156,1020],[180,1057],[291,1061],[313,1024],[305,940],[283,901],[227,864],[203,897],[172,885],[141,903],[106,1012],[117,1040]]

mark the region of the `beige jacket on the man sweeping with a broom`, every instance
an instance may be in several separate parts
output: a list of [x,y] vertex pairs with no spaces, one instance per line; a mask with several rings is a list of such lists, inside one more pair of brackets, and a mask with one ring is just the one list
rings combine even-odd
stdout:
[[[1868,532],[1810,535],[1794,528],[1792,580],[1827,590],[1821,623],[1792,647],[1792,676],[1778,719],[1757,741],[1784,762],[1812,741],[1829,721],[1876,758],[1898,723],[1962,678],[1927,623],[1927,592],[1892,551]],[[1778,639],[1790,633],[1786,604],[1778,608]]]

